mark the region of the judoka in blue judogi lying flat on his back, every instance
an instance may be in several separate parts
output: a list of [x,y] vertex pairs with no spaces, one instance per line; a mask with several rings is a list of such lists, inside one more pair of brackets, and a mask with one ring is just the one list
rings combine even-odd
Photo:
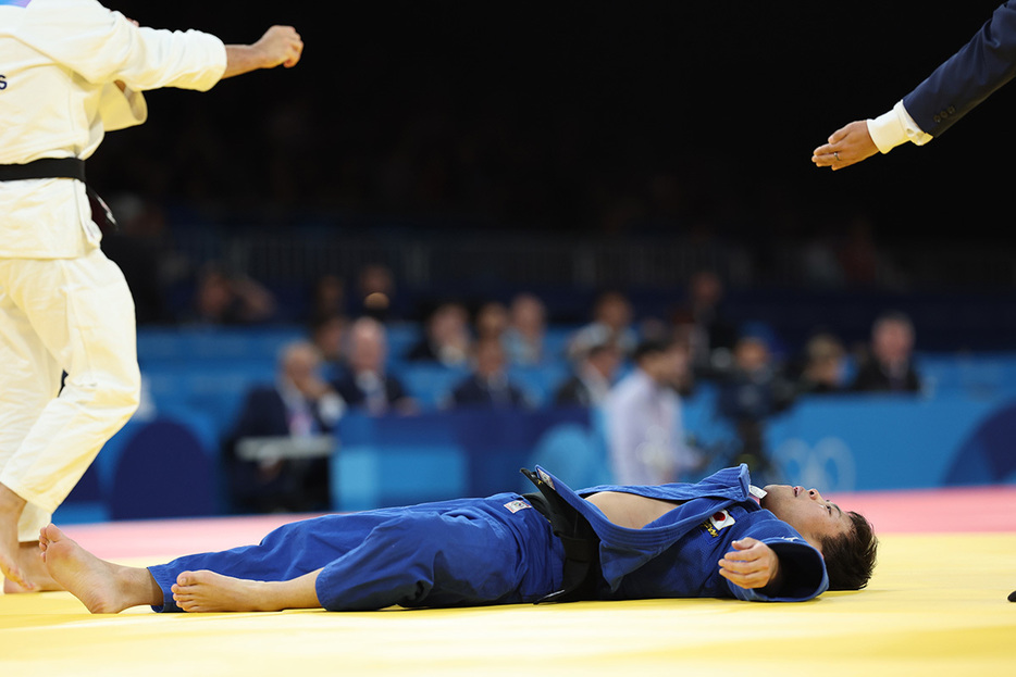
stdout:
[[49,525],[41,556],[94,613],[221,612],[716,597],[805,601],[860,589],[877,539],[815,489],[697,484],[575,492],[543,468],[499,493],[294,522],[258,546],[148,568],[98,559]]

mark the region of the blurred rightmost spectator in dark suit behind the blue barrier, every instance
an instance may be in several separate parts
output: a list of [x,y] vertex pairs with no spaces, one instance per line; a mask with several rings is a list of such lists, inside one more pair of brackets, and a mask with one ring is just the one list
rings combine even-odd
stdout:
[[880,315],[871,327],[868,354],[857,367],[851,390],[918,392],[920,376],[914,367],[914,325],[896,311]]

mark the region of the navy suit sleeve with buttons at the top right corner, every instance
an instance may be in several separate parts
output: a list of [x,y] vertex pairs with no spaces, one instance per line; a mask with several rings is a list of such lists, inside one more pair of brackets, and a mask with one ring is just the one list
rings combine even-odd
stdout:
[[1016,76],[1016,0],[1005,2],[974,38],[940,65],[903,105],[937,137]]

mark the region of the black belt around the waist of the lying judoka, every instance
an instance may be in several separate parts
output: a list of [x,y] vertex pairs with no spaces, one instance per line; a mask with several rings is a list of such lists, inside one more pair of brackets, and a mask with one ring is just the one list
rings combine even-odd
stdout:
[[554,535],[565,546],[561,589],[541,598],[536,603],[595,600],[603,578],[599,572],[599,538],[588,521],[535,473],[522,468],[522,474],[540,489],[540,493],[525,493],[522,498],[547,518]]

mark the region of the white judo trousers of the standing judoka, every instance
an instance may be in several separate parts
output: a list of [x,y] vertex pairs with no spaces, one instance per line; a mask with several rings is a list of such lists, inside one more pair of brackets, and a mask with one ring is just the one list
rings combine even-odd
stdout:
[[38,540],[137,409],[136,344],[134,300],[100,249],[0,259],[0,482],[28,502],[18,540]]

